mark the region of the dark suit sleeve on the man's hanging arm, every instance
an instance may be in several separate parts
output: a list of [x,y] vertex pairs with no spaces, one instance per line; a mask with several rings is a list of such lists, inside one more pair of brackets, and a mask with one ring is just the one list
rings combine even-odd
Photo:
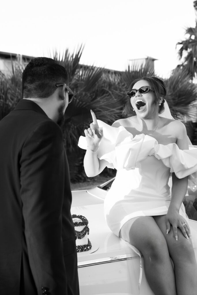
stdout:
[[39,124],[21,152],[22,214],[30,268],[38,290],[67,295],[62,243],[64,152],[60,128]]

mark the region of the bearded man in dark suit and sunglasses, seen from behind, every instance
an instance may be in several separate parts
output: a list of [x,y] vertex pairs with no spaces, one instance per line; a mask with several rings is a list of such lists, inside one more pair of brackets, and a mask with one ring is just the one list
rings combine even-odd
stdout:
[[23,99],[0,121],[0,294],[78,295],[69,167],[61,128],[73,92],[64,67],[35,58]]

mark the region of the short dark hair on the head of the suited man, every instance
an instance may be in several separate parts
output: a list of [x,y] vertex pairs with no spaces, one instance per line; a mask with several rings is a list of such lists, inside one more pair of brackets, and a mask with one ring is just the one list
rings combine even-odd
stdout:
[[34,58],[22,73],[23,98],[47,98],[58,83],[68,84],[66,69],[52,58]]

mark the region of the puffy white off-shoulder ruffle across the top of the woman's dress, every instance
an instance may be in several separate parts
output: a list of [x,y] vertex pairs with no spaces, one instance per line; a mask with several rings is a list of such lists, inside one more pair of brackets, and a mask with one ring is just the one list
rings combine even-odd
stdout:
[[[158,144],[157,140],[143,133],[133,135],[125,127],[112,127],[97,120],[103,128],[103,138],[99,145],[98,158],[108,162],[109,168],[133,169],[147,156],[162,160],[178,178],[189,176],[188,185],[197,183],[197,148],[180,150],[176,143]],[[85,137],[81,136],[78,143],[80,148],[87,148]]]

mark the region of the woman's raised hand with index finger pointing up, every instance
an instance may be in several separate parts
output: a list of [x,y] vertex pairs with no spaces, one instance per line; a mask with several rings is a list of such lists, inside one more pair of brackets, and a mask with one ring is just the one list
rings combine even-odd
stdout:
[[98,149],[99,142],[103,137],[102,127],[99,128],[95,113],[90,110],[93,122],[88,129],[84,130],[84,134],[87,140],[88,148],[94,153]]

